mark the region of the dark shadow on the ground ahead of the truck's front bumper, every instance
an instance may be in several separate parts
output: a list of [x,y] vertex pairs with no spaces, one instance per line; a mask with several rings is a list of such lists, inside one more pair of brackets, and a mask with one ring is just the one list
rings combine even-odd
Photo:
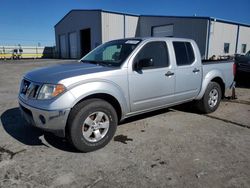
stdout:
[[46,133],[38,128],[30,126],[22,118],[18,108],[6,110],[1,115],[1,121],[4,130],[19,142],[30,146],[48,146],[43,143],[42,136],[46,142],[57,149],[77,152],[65,139],[54,136],[53,134]]

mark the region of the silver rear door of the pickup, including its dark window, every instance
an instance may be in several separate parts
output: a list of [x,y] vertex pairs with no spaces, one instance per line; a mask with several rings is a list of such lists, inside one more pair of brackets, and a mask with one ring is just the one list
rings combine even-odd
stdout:
[[185,101],[196,97],[202,82],[201,60],[190,42],[174,41],[176,59],[175,97]]

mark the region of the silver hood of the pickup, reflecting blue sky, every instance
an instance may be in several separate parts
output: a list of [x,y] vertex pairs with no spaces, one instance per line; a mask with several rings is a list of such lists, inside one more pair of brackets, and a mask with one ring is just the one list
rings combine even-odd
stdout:
[[61,80],[86,74],[114,70],[114,67],[104,67],[89,63],[63,64],[34,69],[24,77],[38,83],[58,83]]

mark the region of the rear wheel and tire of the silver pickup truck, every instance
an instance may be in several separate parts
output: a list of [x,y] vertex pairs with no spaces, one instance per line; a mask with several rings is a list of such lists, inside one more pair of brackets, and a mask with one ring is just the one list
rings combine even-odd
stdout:
[[221,101],[221,87],[216,82],[210,82],[201,100],[197,101],[197,108],[201,113],[214,112]]

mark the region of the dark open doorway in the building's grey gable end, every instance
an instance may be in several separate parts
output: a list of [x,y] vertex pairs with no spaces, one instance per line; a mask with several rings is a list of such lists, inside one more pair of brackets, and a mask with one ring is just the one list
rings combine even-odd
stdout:
[[81,56],[85,56],[91,50],[91,30],[81,30]]

